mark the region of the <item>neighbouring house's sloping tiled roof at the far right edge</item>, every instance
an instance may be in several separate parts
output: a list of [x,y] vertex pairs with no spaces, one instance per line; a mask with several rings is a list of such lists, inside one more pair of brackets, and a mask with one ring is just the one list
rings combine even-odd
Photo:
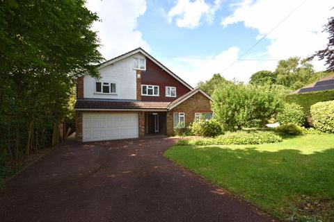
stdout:
[[301,89],[297,89],[294,92],[291,92],[290,94],[301,94],[304,92],[315,92],[331,89],[334,89],[334,74],[330,76],[325,76],[324,78],[317,80],[317,82],[306,85]]

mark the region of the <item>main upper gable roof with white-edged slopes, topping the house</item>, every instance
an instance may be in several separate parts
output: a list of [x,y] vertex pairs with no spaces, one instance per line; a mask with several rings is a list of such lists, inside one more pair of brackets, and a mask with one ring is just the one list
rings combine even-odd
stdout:
[[188,89],[191,89],[191,90],[193,89],[193,87],[191,87],[191,85],[189,85],[184,80],[182,80],[182,78],[180,78],[179,76],[177,76],[176,74],[174,74],[173,71],[170,71],[167,67],[165,67],[164,65],[162,65],[161,62],[159,62],[158,60],[156,60],[153,56],[151,56],[145,50],[141,49],[141,47],[139,47],[137,49],[134,49],[132,51],[128,51],[127,53],[124,53],[124,54],[122,54],[120,56],[112,58],[111,60],[107,60],[105,62],[102,62],[101,65],[97,69],[101,69],[103,67],[106,67],[108,65],[113,64],[114,62],[118,62],[119,60],[128,58],[129,56],[133,56],[136,53],[142,53],[145,57],[147,57],[150,60],[152,60],[152,62],[154,62],[155,64],[157,64],[159,67],[161,67],[161,69],[164,69],[164,71],[166,71],[168,74],[170,74],[170,76],[173,76],[175,79],[177,79],[180,83],[182,83]]

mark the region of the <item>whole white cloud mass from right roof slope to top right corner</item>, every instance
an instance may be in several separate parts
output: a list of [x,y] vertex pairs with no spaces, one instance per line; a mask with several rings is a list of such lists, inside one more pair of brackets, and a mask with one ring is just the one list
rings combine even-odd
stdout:
[[[259,40],[302,2],[302,0],[243,0],[231,5],[232,15],[223,18],[221,25],[226,27],[242,22],[247,28],[258,31],[257,40]],[[333,8],[331,1],[305,1],[266,37],[270,43],[265,51],[257,55],[248,53],[242,58],[255,60],[241,60],[230,67],[240,56],[239,47],[234,46],[207,58],[187,57],[170,60],[168,65],[193,86],[216,73],[222,74],[229,80],[236,78],[247,82],[256,71],[276,69],[277,60],[291,56],[305,58],[319,49],[324,49],[328,42],[328,34],[322,31],[324,24],[328,22],[327,19],[333,14],[331,8]],[[315,60],[312,63],[316,70],[326,69],[323,61]]]

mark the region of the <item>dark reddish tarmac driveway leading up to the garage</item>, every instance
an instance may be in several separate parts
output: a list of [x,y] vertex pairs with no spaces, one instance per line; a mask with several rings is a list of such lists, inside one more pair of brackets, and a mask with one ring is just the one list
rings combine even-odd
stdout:
[[0,221],[271,221],[167,160],[174,142],[65,142],[6,183]]

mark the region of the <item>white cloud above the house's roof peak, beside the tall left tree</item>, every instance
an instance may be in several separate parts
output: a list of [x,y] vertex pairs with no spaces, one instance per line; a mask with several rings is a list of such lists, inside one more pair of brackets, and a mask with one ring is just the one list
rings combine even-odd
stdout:
[[135,30],[138,17],[146,11],[145,0],[88,0],[86,6],[102,19],[93,24],[93,30],[98,31],[104,58],[108,60],[138,46],[150,51],[141,32]]

